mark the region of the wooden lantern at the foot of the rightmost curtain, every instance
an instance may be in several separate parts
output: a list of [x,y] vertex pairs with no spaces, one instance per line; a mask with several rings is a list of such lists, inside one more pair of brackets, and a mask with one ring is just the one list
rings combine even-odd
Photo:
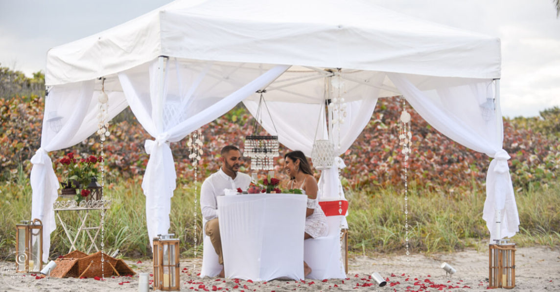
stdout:
[[515,287],[515,243],[496,240],[489,245],[489,288],[512,289]]

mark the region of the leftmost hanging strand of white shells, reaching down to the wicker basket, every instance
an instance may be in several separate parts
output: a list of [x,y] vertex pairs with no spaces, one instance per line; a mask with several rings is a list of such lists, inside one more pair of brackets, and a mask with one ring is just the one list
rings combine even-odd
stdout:
[[101,94],[97,97],[97,135],[101,140],[101,161],[99,163],[101,173],[101,279],[105,277],[105,145],[104,141],[111,135],[109,132],[109,95],[105,93],[105,78],[101,78]]

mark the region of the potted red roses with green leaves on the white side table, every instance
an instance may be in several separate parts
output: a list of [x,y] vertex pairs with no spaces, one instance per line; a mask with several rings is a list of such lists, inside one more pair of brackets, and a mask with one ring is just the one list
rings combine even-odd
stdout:
[[[99,169],[97,162],[101,162],[102,157],[93,155],[87,158],[80,158],[69,152],[55,163],[63,167],[62,171],[62,195],[70,195],[74,197],[77,203],[88,198],[91,194],[91,188],[97,187],[97,175]],[[78,192],[76,192],[78,191]]]

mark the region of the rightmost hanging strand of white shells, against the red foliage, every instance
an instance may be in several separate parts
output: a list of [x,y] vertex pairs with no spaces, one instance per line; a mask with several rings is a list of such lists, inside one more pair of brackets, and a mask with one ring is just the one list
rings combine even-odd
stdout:
[[404,155],[404,227],[405,227],[405,248],[407,250],[407,261],[409,252],[409,238],[408,238],[408,157],[412,150],[412,132],[410,132],[410,113],[405,108],[406,103],[403,98],[403,112],[400,113],[399,123],[399,146],[401,147],[400,153]]

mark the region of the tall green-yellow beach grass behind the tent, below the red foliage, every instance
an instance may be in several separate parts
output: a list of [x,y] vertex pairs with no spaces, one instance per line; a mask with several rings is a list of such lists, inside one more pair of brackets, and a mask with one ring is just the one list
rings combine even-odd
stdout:
[[[178,183],[171,199],[171,227],[181,241],[181,255],[202,255],[202,218],[198,194],[200,182]],[[518,246],[560,246],[560,185],[549,184],[516,193],[520,232],[512,238]],[[105,213],[104,249],[118,249],[127,257],[150,257],[151,248],[146,229],[146,205],[141,178],[108,181],[106,198],[111,209]],[[405,252],[405,201],[402,189],[347,190],[349,201],[348,246],[351,253]],[[408,191],[409,250],[417,252],[452,252],[465,247],[477,248],[488,243],[489,232],[482,219],[486,194],[483,188],[446,192],[426,192],[411,185]],[[196,204],[195,204],[196,202]],[[196,207],[195,207],[196,205]],[[97,212],[97,213],[96,213]],[[72,234],[78,228],[76,212],[60,212]],[[95,224],[99,211],[89,215]],[[15,248],[15,226],[31,219],[31,188],[29,179],[0,185],[0,256],[8,259]],[[101,234],[99,234],[99,239]],[[57,221],[51,236],[51,257],[69,251],[70,242]],[[98,245],[101,240],[98,240]],[[88,248],[87,234],[78,239],[78,250]]]

